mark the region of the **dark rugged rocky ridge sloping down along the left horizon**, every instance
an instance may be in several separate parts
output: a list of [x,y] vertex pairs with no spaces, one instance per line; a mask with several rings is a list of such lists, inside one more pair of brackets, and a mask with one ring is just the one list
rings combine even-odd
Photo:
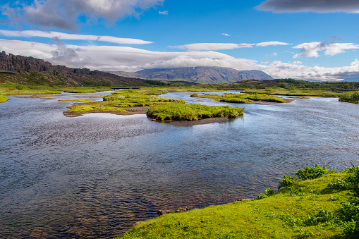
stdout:
[[[17,83],[31,85],[32,78],[42,78],[44,85],[83,85],[84,83],[109,82],[111,85],[145,85],[138,78],[128,78],[106,73],[103,71],[90,71],[87,68],[68,68],[66,66],[53,66],[51,63],[33,57],[0,54],[0,69],[4,71],[15,71],[14,80]],[[49,81],[47,84],[46,81]]]

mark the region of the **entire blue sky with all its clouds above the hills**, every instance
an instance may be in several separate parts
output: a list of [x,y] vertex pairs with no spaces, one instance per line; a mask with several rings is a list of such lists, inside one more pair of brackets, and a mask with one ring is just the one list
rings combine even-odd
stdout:
[[358,0],[0,0],[0,51],[99,71],[359,78]]

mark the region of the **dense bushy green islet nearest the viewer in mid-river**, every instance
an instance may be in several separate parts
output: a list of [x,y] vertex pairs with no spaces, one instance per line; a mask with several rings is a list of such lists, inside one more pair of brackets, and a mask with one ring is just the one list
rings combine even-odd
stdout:
[[205,106],[202,104],[164,104],[147,109],[147,116],[157,121],[197,121],[202,118],[243,116],[244,108]]

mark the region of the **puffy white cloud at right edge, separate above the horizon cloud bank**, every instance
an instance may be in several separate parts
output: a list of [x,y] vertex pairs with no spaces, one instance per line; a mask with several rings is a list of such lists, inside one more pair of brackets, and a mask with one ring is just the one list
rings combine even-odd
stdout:
[[359,49],[359,45],[353,43],[306,42],[293,48],[300,49],[300,54],[293,56],[296,59],[303,56],[318,57],[318,51],[324,51],[327,56],[334,56],[345,52],[345,50]]

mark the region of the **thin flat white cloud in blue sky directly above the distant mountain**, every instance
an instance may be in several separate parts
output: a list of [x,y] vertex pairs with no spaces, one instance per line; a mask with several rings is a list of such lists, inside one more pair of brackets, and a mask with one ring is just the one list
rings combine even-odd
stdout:
[[216,50],[227,50],[227,49],[237,49],[237,48],[249,48],[253,47],[255,44],[248,43],[193,43],[185,44],[181,46],[174,46],[171,48],[185,49],[188,51],[216,51]]

